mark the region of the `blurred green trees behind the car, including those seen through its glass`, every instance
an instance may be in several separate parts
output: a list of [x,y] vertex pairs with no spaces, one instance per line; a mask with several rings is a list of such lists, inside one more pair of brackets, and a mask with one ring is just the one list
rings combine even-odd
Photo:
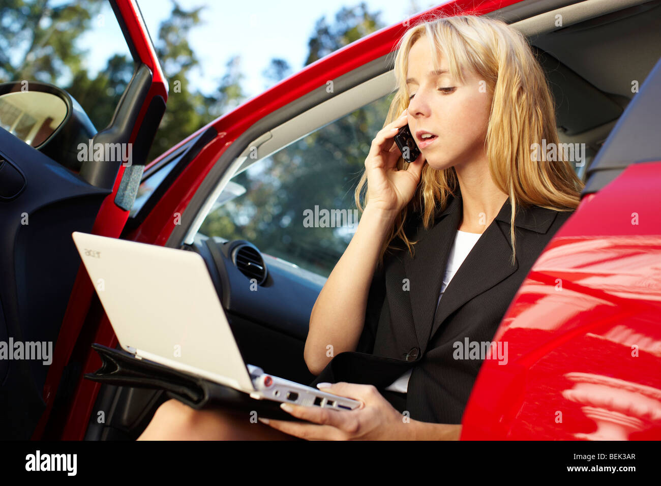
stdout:
[[[81,103],[97,130],[108,126],[134,72],[134,63],[130,56],[114,55],[98,75],[91,76],[81,61],[86,52],[76,41],[94,28],[101,7],[95,0],[57,7],[48,0],[2,0],[0,81],[36,79],[57,85],[61,77],[70,79],[63,88]],[[200,60],[188,37],[200,25],[203,10],[185,10],[172,0],[170,17],[161,23],[154,38],[169,83],[169,99],[149,159],[245,100],[239,57],[227,62],[214,93],[202,93],[190,82],[191,70]],[[342,7],[332,23],[325,17],[319,19],[308,42],[305,64],[379,30],[383,27],[379,15],[369,13],[361,3]],[[263,75],[273,85],[291,71],[286,61],[275,58]],[[328,275],[351,233],[344,228],[304,227],[303,211],[318,205],[320,209],[352,212],[354,188],[364,170],[371,140],[383,125],[390,98],[336,120],[237,175],[233,181],[245,186],[247,192],[210,214],[202,232],[248,239],[266,253]]]

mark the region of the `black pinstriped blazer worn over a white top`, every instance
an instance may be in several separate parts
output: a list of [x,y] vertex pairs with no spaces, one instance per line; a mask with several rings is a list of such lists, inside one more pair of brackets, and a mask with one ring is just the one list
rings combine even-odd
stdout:
[[[342,352],[317,376],[320,382],[390,385],[413,368],[406,394],[410,418],[459,424],[482,361],[453,358],[454,343],[491,341],[531,266],[572,212],[530,206],[517,208],[516,263],[512,266],[510,200],[486,228],[440,300],[442,279],[463,205],[450,196],[434,226],[419,215],[407,233],[408,250],[385,257],[369,289],[366,319],[355,352]],[[405,290],[408,279],[410,290]],[[392,402],[391,402],[392,403]]]

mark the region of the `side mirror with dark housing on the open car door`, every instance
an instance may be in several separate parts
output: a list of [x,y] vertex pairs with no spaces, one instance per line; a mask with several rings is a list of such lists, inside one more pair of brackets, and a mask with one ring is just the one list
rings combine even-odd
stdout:
[[76,172],[76,147],[97,134],[69,93],[38,81],[0,83],[0,128]]

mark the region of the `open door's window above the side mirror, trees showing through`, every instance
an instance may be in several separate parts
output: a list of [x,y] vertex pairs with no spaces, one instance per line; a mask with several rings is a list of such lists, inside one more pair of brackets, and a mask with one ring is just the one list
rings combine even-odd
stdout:
[[24,0],[0,12],[0,83],[56,85],[81,104],[97,130],[108,126],[134,71],[110,3]]

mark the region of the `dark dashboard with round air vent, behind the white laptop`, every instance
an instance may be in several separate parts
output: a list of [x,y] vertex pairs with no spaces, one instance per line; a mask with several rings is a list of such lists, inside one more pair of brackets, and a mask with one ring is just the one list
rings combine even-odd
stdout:
[[303,349],[326,278],[245,240],[198,233],[184,250],[204,259],[245,362],[288,380],[312,382]]

